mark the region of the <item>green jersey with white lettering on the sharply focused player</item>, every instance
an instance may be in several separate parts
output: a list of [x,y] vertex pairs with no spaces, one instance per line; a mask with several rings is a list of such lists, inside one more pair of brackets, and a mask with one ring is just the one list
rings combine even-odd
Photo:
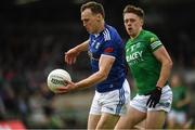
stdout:
[[139,94],[146,94],[156,87],[161,64],[153,52],[161,46],[158,37],[147,30],[141,30],[136,38],[129,39],[126,43],[126,60]]

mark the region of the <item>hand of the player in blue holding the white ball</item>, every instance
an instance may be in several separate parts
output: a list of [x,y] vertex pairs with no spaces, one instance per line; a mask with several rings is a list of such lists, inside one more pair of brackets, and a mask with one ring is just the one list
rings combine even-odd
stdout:
[[76,84],[72,81],[65,81],[65,84],[66,86],[57,87],[55,90],[55,93],[57,93],[57,94],[68,93],[76,88]]

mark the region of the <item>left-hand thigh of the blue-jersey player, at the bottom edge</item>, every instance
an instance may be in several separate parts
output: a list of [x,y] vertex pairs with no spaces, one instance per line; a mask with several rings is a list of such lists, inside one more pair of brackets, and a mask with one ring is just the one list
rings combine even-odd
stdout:
[[100,118],[101,118],[101,115],[90,114],[88,117],[88,130],[95,129]]

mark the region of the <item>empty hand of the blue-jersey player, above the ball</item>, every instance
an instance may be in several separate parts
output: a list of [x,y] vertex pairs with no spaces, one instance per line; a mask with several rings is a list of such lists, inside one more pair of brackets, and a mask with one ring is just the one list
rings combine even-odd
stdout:
[[65,52],[65,62],[68,65],[72,65],[76,62],[79,52],[76,49],[70,49],[69,51]]

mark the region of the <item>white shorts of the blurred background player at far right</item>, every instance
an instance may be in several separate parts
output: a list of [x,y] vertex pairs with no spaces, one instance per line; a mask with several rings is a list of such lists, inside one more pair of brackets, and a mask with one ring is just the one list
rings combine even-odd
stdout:
[[185,123],[186,122],[186,113],[185,112],[177,112],[170,110],[168,114],[169,119],[174,119],[178,123]]

